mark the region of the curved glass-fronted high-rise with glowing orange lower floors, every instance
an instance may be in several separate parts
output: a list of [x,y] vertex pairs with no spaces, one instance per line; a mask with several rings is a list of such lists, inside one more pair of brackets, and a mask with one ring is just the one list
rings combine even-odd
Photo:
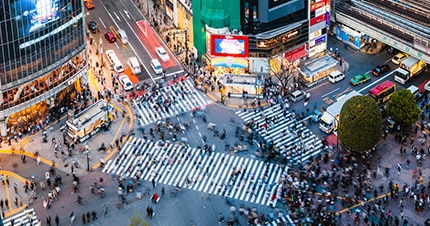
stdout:
[[86,83],[82,0],[0,1],[0,133],[34,132]]

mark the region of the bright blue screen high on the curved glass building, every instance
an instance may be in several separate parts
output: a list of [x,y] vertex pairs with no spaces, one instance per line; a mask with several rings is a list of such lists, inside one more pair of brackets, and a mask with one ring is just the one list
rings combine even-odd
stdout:
[[17,0],[11,3],[18,35],[27,36],[46,28],[50,23],[67,16],[73,10],[67,0]]

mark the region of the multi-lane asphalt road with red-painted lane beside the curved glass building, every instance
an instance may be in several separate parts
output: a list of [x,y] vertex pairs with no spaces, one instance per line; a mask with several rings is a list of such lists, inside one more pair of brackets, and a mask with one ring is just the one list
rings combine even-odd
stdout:
[[[101,1],[94,0],[95,8],[86,10],[85,21],[95,21],[98,24],[100,32],[91,34],[96,43],[102,40],[103,51],[113,49],[124,67],[127,68],[127,59],[136,56],[141,64],[142,73],[136,75],[138,81],[151,80],[155,81],[161,78],[156,75],[150,66],[152,59],[157,58],[162,63],[167,75],[183,72],[182,66],[176,60],[162,42],[161,38],[146,23],[146,19],[135,4],[130,0],[119,1]],[[142,25],[143,24],[143,25]],[[125,31],[128,36],[128,44],[117,40],[115,43],[109,43],[104,38],[104,33],[112,31],[116,33],[119,29]],[[155,52],[156,46],[163,46],[170,55],[168,62],[163,62]],[[105,59],[106,60],[106,59]],[[134,82],[134,79],[131,78]]]

